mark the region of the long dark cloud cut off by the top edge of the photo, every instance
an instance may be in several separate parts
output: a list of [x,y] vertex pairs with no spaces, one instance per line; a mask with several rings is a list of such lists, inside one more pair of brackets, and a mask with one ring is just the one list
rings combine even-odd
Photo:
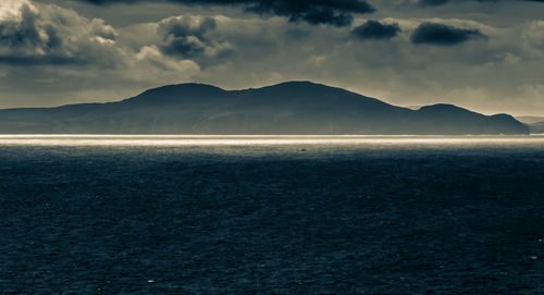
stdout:
[[[81,0],[92,4],[151,2],[149,0]],[[243,5],[246,11],[288,17],[292,22],[347,26],[354,13],[372,13],[364,0],[162,0],[181,4]]]

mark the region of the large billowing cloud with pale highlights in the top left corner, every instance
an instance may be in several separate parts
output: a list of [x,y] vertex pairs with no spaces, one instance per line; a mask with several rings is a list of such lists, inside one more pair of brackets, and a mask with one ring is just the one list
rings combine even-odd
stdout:
[[102,20],[89,21],[57,5],[5,1],[0,4],[0,63],[116,63],[116,32]]

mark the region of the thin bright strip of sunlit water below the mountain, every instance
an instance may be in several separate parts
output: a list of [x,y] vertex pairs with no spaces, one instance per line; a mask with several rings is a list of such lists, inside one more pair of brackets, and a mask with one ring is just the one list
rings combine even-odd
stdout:
[[316,135],[0,135],[0,145],[35,146],[277,146],[277,145],[544,145],[531,136]]

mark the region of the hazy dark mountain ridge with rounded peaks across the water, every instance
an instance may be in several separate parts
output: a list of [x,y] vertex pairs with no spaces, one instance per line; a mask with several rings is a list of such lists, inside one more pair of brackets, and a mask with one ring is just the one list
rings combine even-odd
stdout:
[[118,102],[0,110],[0,133],[528,134],[507,114],[452,105],[418,110],[310,82],[224,90],[171,85]]

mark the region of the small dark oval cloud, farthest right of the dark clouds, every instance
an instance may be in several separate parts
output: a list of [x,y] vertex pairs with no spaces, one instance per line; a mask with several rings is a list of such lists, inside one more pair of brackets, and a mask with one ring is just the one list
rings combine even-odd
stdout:
[[454,46],[471,39],[486,39],[479,29],[458,28],[444,24],[422,23],[411,35],[416,45]]

